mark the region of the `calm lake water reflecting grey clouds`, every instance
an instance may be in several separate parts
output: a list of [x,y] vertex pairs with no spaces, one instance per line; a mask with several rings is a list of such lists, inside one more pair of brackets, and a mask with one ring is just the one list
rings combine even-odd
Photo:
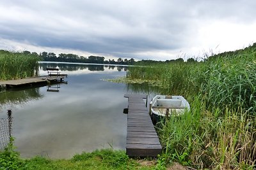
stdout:
[[[47,74],[40,65],[40,75]],[[56,67],[56,64],[51,67]],[[0,117],[13,111],[13,136],[22,157],[70,158],[75,153],[125,149],[127,85],[102,81],[125,67],[58,64],[68,84],[0,92]],[[48,92],[47,90],[59,90]]]

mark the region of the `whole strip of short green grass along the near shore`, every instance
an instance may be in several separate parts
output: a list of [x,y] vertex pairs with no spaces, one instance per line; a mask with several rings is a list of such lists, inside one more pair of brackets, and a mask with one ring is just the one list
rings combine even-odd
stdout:
[[0,169],[155,169],[156,165],[142,166],[136,159],[129,159],[124,151],[105,149],[74,155],[72,159],[52,160],[45,157],[20,159],[10,145],[0,152]]

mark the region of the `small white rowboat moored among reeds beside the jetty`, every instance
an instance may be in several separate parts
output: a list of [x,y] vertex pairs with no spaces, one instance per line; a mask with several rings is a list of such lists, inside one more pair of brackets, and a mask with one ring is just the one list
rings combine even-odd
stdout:
[[154,122],[159,117],[182,115],[185,110],[190,110],[189,103],[182,96],[157,95],[150,102],[150,116]]

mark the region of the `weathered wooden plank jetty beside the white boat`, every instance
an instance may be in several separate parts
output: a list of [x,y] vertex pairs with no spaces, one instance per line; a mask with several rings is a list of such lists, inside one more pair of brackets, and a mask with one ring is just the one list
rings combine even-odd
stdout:
[[157,157],[161,154],[159,142],[148,109],[145,95],[125,94],[128,97],[126,153],[131,157]]

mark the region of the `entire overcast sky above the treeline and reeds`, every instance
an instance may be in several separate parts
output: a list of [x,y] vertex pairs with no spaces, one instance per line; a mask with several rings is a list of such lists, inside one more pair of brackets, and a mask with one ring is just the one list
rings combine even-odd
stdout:
[[1,0],[0,48],[170,60],[256,42],[255,0]]

